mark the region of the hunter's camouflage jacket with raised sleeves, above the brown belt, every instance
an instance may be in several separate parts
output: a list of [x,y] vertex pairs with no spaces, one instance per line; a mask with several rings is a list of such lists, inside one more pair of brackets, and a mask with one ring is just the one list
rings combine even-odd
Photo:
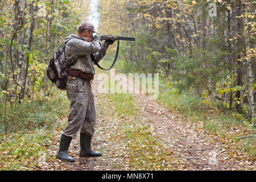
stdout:
[[66,59],[77,59],[76,63],[70,69],[81,72],[95,74],[94,63],[90,54],[93,54],[97,63],[105,56],[108,44],[100,42],[100,38],[94,36],[93,42],[85,42],[75,34],[69,35],[65,40],[65,57]]

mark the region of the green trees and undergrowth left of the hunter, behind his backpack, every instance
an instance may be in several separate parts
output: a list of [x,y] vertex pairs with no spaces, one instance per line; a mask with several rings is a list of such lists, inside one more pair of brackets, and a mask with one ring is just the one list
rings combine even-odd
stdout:
[[[5,124],[8,133],[18,131],[32,131],[46,127],[49,129],[61,115],[67,114],[67,101],[61,96],[61,92],[48,82],[48,97],[46,91],[46,68],[52,52],[63,46],[63,40],[77,31],[81,13],[79,8],[71,0],[31,1],[31,5],[38,7],[35,12],[35,24],[32,24],[30,7],[26,6],[24,12],[24,24],[17,21],[21,14],[20,1],[0,2],[0,133],[5,133]],[[29,3],[30,4],[30,3]],[[39,5],[45,5],[40,7]],[[52,7],[51,7],[52,6]],[[40,10],[45,11],[39,15]],[[51,26],[49,26],[51,23]],[[34,32],[31,28],[34,25]],[[18,30],[14,28],[19,27]],[[51,29],[49,29],[51,27]],[[13,44],[11,45],[11,38]],[[32,37],[32,50],[28,50],[29,40]],[[21,38],[24,38],[21,41]],[[10,47],[12,46],[12,47]],[[10,50],[12,51],[10,55]],[[12,56],[12,57],[10,57]],[[12,63],[10,61],[12,58]],[[27,65],[28,60],[28,65]],[[27,69],[27,74],[26,73]],[[19,102],[20,86],[26,88]],[[16,84],[18,82],[18,84]],[[5,96],[7,96],[7,110],[5,111]],[[57,97],[56,97],[57,96]],[[60,97],[59,97],[60,96]],[[61,102],[63,102],[61,104]],[[6,120],[5,120],[6,113]],[[4,121],[5,120],[5,121]]]

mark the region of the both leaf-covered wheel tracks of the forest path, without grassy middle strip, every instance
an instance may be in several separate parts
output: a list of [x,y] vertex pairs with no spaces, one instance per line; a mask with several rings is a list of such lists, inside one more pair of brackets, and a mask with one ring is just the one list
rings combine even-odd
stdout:
[[[93,81],[93,93],[96,104],[96,133],[92,139],[92,148],[102,152],[99,158],[80,158],[79,133],[72,140],[69,154],[75,163],[53,160],[46,166],[55,170],[134,170],[129,163],[130,151],[127,151],[127,139],[117,139],[121,121],[115,113],[115,106],[109,100],[109,94],[97,92],[100,83],[97,75]],[[152,135],[160,138],[162,145],[173,161],[163,161],[165,170],[253,170],[255,162],[248,161],[237,151],[236,143],[220,139],[217,135],[207,133],[203,122],[184,119],[177,111],[151,100],[146,94],[131,94],[138,102],[139,115],[143,124],[150,125]],[[64,119],[64,123],[67,118]],[[60,134],[60,133],[59,133]],[[59,138],[56,136],[54,147],[57,151]],[[54,166],[54,167],[53,167]],[[42,168],[44,170],[44,167]],[[47,169],[47,168],[45,168]],[[152,169],[155,170],[155,169]]]

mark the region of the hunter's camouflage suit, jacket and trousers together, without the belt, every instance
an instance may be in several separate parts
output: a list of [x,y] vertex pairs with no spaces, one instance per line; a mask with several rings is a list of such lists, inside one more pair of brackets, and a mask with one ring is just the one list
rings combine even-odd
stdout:
[[[66,59],[77,59],[77,63],[70,69],[89,73],[90,75],[95,74],[90,54],[92,53],[98,62],[105,56],[106,49],[108,49],[108,44],[104,42],[101,45],[100,38],[96,36],[94,36],[93,42],[85,42],[77,35],[72,34],[65,39],[64,43],[67,43],[65,48]],[[81,133],[93,136],[96,124],[96,110],[90,81],[69,76],[66,90],[71,106],[68,124],[62,134],[76,138],[77,132],[81,129]]]

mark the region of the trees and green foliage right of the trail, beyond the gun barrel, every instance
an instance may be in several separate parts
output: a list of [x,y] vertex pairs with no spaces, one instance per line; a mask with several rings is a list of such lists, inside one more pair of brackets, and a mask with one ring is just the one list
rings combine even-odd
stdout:
[[[115,2],[108,1],[109,4]],[[244,3],[249,2],[252,1]],[[136,38],[132,43],[122,42],[119,53],[122,63],[117,65],[120,71],[157,72],[160,78],[172,82],[177,92],[203,94],[204,104],[238,111],[243,118],[251,119],[252,109],[246,94],[251,86],[255,97],[252,84],[255,79],[253,73],[253,81],[248,83],[246,60],[252,60],[255,70],[254,10],[252,6],[236,9],[240,6],[238,2],[234,2],[234,7],[225,7],[226,2],[214,1],[223,7],[218,6],[217,16],[209,20],[209,3],[119,1],[118,10],[101,13],[104,19],[100,27],[111,31],[117,31],[113,27],[118,27],[119,34]],[[120,10],[121,15],[117,13]],[[244,17],[247,17],[247,27],[242,23]],[[113,27],[112,23],[106,23],[107,19],[114,23]],[[247,30],[249,43],[243,41]]]

